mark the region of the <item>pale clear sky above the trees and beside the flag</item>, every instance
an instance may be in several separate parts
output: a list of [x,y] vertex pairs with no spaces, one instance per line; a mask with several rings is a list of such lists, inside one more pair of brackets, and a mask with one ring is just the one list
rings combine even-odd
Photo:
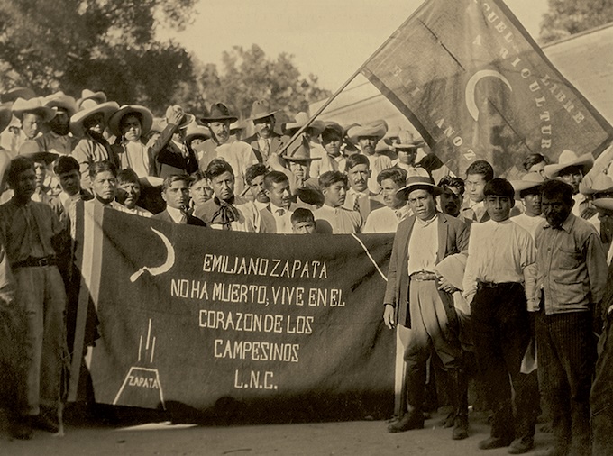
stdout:
[[[449,0],[453,1],[453,0]],[[270,59],[286,52],[303,78],[335,91],[377,50],[422,0],[199,0],[184,32],[160,31],[203,63],[221,62],[234,45],[258,44]],[[533,37],[547,0],[507,0]]]

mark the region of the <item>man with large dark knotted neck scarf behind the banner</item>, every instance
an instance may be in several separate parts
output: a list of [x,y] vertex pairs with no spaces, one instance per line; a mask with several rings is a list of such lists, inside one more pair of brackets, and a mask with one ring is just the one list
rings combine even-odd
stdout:
[[206,167],[206,177],[215,196],[199,206],[194,215],[217,230],[260,232],[257,207],[252,201],[234,195],[232,166],[223,159],[211,160]]

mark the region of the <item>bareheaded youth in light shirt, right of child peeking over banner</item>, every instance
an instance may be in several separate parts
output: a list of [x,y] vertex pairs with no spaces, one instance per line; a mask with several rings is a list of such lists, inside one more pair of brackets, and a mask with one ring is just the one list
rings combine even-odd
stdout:
[[360,213],[343,206],[347,195],[347,176],[339,171],[327,171],[319,177],[319,188],[324,194],[324,205],[314,213],[317,233],[360,233]]

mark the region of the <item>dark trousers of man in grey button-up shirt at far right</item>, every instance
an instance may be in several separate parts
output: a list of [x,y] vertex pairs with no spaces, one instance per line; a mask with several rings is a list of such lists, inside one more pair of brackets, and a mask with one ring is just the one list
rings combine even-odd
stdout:
[[556,449],[562,454],[589,455],[590,388],[596,358],[590,312],[539,312],[536,355]]

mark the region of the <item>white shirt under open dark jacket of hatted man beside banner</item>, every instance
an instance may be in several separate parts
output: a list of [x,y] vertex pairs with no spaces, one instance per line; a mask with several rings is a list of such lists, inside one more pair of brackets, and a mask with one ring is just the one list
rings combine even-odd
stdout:
[[408,240],[408,275],[419,271],[434,272],[438,251],[438,214],[430,220],[416,218]]

